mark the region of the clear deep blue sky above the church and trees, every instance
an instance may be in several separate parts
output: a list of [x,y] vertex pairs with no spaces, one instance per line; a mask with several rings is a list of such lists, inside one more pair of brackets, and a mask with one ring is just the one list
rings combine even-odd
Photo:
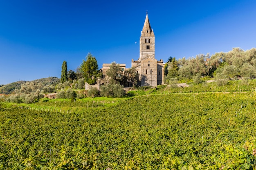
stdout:
[[147,10],[164,62],[256,47],[255,0],[0,0],[0,85],[60,78],[88,52],[130,68]]

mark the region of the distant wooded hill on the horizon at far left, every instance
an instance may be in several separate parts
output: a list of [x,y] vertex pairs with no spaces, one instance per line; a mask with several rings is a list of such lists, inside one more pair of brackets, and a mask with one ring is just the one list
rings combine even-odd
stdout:
[[[49,85],[57,85],[60,79],[57,77],[48,77],[48,78],[40,78],[31,82],[34,83],[42,83],[44,86]],[[14,83],[10,83],[7,85],[2,85],[0,87],[0,94],[11,94],[15,89],[20,89],[22,84],[27,83],[28,81],[16,81]],[[30,82],[30,81],[29,81]]]

